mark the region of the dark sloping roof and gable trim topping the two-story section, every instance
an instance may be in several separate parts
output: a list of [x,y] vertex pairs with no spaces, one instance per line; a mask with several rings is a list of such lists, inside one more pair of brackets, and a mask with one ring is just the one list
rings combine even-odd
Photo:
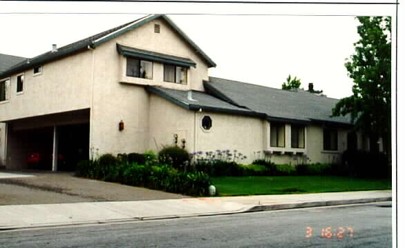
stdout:
[[146,17],[142,17],[140,19],[136,19],[135,21],[131,21],[129,23],[125,23],[123,25],[119,25],[115,28],[111,28],[109,30],[106,30],[104,32],[100,32],[98,34],[95,34],[91,37],[87,37],[86,39],[82,39],[80,41],[76,41],[74,43],[70,43],[69,45],[65,45],[62,48],[58,48],[57,51],[52,52],[46,52],[44,54],[41,54],[39,56],[35,56],[32,59],[24,59],[21,61],[21,63],[17,63],[16,65],[12,66],[11,68],[7,68],[5,71],[1,72],[0,71],[0,78],[5,77],[5,76],[10,76],[11,74],[15,74],[17,72],[22,72],[23,70],[28,70],[30,68],[33,68],[37,65],[41,65],[44,63],[48,63],[50,61],[54,61],[56,59],[62,59],[65,56],[70,56],[72,54],[75,54],[77,52],[82,52],[84,50],[87,50],[88,48],[94,48],[97,45],[101,45],[102,43],[105,43],[106,41],[110,41],[111,39],[114,39],[115,37],[120,36],[121,34],[124,34],[126,32],[129,32],[135,28],[140,27],[144,23],[148,23],[149,21],[153,21],[155,19],[162,18],[171,27],[173,30],[176,30],[176,32],[182,37],[182,39],[185,39],[191,47],[194,48],[194,50],[200,54],[200,56],[204,59],[205,62],[209,65],[209,67],[215,67],[216,63],[212,61],[203,50],[201,50],[196,43],[191,41],[187,35],[178,28],[178,26],[169,19],[164,14],[153,14],[153,15],[147,15]]

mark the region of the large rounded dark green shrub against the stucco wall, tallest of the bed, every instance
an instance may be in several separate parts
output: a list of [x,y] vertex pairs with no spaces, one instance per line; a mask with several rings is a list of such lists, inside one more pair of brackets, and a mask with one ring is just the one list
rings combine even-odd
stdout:
[[190,156],[186,149],[177,146],[163,147],[158,154],[160,163],[171,165],[176,169],[184,170],[189,164]]

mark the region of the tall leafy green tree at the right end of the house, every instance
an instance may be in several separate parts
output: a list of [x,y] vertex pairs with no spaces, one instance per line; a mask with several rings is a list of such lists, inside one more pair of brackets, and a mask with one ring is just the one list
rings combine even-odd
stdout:
[[382,137],[390,156],[391,101],[391,19],[390,17],[357,17],[360,39],[355,54],[346,59],[348,76],[353,79],[352,96],[341,99],[332,116],[350,114],[356,130],[370,137],[370,149],[377,150]]

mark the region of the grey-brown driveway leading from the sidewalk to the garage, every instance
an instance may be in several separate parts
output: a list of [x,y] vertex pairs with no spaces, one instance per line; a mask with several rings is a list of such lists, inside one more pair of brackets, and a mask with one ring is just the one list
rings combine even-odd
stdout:
[[77,178],[73,172],[0,172],[0,205],[179,198],[189,196]]

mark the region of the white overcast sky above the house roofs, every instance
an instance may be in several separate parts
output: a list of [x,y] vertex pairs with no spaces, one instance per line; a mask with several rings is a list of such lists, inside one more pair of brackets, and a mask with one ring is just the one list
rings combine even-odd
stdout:
[[[66,14],[78,12],[86,14]],[[144,14],[169,14],[217,64],[210,76],[281,88],[291,74],[305,90],[314,83],[315,90],[341,99],[352,94],[344,63],[359,39],[355,16],[392,14],[393,6],[0,2],[0,13],[0,53],[25,57]]]

